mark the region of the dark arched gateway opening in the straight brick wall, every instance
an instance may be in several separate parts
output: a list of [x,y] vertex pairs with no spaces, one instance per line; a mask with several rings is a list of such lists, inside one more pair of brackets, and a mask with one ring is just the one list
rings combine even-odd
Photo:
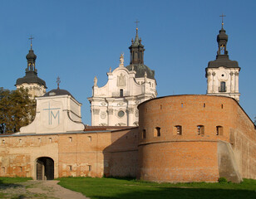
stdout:
[[37,158],[37,180],[54,179],[54,161],[49,157]]

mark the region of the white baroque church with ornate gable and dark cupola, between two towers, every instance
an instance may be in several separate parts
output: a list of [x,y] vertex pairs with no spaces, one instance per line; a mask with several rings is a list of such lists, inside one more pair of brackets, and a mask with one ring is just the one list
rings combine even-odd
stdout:
[[136,28],[131,41],[130,65],[124,66],[124,55],[115,70],[107,73],[106,85],[98,87],[94,78],[91,103],[92,126],[138,126],[137,105],[156,97],[155,71],[144,65],[144,46]]

